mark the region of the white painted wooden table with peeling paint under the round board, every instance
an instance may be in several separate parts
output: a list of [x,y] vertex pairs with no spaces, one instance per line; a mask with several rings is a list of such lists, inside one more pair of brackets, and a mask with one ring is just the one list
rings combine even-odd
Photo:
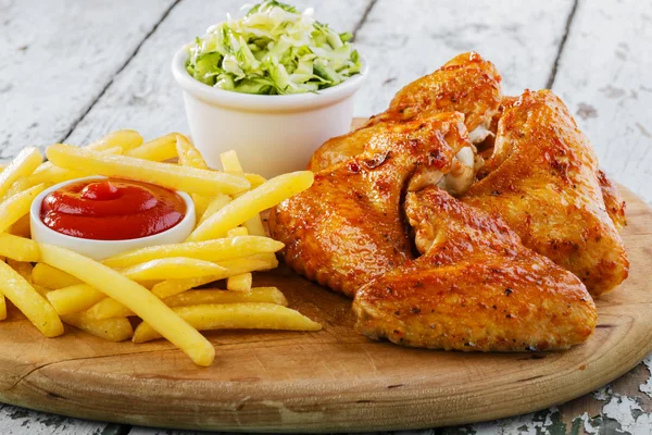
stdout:
[[[0,160],[27,145],[83,145],[117,128],[187,132],[174,50],[243,0],[0,0]],[[652,2],[296,0],[350,30],[372,64],[356,115],[476,50],[505,94],[552,88],[602,166],[652,203]],[[652,314],[651,314],[652,315]],[[417,433],[652,433],[652,357],[599,391],[532,414]],[[163,434],[0,405],[0,434]]]

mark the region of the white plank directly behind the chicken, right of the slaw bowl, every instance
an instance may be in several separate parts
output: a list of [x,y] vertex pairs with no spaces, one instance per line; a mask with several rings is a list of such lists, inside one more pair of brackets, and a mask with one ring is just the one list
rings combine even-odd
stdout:
[[356,35],[372,73],[355,113],[385,110],[402,86],[469,50],[498,66],[507,95],[546,87],[572,5],[572,0],[379,0]]

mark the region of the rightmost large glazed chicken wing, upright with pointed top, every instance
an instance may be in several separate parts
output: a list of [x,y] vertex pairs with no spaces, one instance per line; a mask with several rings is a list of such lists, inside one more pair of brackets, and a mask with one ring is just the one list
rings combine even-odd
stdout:
[[527,90],[505,110],[486,171],[464,202],[502,217],[593,296],[627,277],[625,247],[603,200],[604,189],[607,198],[615,194],[601,187],[589,141],[552,91]]

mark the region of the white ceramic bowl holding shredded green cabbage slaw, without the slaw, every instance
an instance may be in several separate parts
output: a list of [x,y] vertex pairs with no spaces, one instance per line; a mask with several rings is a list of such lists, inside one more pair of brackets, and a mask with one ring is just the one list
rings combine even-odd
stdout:
[[186,71],[187,46],[172,61],[184,90],[195,146],[209,166],[221,169],[220,153],[235,149],[247,172],[271,177],[304,170],[313,152],[331,137],[349,133],[353,97],[367,64],[341,84],[315,94],[260,96],[208,86]]

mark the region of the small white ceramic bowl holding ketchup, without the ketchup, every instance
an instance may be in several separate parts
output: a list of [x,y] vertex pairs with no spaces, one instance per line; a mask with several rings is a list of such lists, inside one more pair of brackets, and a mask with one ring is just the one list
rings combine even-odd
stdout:
[[186,202],[186,216],[181,220],[181,222],[179,222],[172,228],[164,231],[163,233],[154,234],[153,236],[127,240],[91,240],[58,233],[42,223],[42,221],[40,220],[41,203],[43,202],[46,196],[48,196],[50,192],[60,189],[61,187],[66,186],[71,183],[103,178],[105,177],[91,176],[85,178],[71,179],[70,182],[60,183],[55,186],[50,187],[49,189],[43,190],[38,197],[34,199],[34,201],[32,202],[32,208],[29,209],[29,224],[32,227],[32,238],[36,241],[57,245],[62,248],[70,249],[72,251],[82,253],[86,257],[90,257],[95,260],[103,260],[105,258],[117,256],[118,253],[123,253],[131,249],[139,249],[155,245],[178,244],[188,238],[190,233],[192,233],[196,223],[195,203],[192,202],[190,196],[183,191],[177,191],[177,194],[184,199],[184,202]]

